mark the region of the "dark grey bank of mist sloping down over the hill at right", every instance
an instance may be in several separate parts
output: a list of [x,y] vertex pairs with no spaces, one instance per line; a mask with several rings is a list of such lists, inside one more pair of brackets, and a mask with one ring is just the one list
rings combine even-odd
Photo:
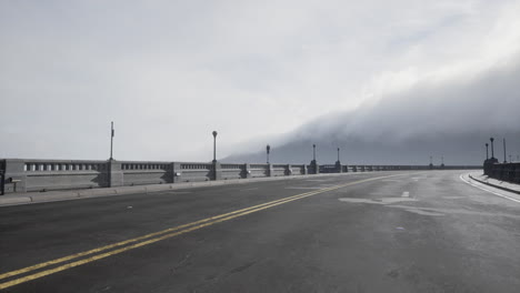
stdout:
[[[520,61],[494,63],[486,70],[442,79],[422,79],[406,90],[370,100],[354,111],[329,113],[293,132],[272,138],[271,162],[308,163],[317,144],[320,163],[480,164],[484,143],[494,137],[494,154],[520,154]],[[248,148],[251,148],[250,145]],[[251,148],[252,149],[252,148]],[[254,146],[224,158],[232,162],[264,162]]]

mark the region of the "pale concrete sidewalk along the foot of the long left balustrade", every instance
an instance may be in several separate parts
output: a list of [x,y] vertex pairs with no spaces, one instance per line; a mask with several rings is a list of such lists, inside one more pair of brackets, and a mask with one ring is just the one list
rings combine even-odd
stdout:
[[328,173],[328,174],[318,174],[318,175],[232,179],[232,180],[204,181],[204,182],[183,182],[183,183],[174,183],[174,184],[167,183],[167,184],[103,188],[103,189],[9,193],[6,195],[0,195],[0,206],[80,200],[80,199],[91,199],[91,198],[100,198],[100,196],[114,196],[114,195],[136,194],[136,193],[149,193],[149,192],[159,192],[159,191],[167,191],[167,190],[192,189],[192,188],[214,186],[214,185],[224,185],[224,184],[244,184],[244,183],[250,183],[250,182],[262,182],[262,181],[273,181],[273,180],[294,180],[294,179],[307,179],[307,178],[317,178],[317,176],[341,176],[341,175],[356,175],[356,174],[368,174],[368,173],[372,173],[372,172]]

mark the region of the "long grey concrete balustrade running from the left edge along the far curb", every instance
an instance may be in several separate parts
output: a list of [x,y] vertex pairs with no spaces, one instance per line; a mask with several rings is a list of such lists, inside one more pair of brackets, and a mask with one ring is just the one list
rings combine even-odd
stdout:
[[[497,169],[493,172],[497,176],[518,180],[520,166],[517,165],[504,166],[503,170]],[[446,166],[446,169],[479,169],[479,166]],[[113,160],[0,160],[0,173],[3,173],[6,179],[6,193],[389,170],[429,170],[429,166],[342,165],[339,162],[320,165],[316,161],[308,165]]]

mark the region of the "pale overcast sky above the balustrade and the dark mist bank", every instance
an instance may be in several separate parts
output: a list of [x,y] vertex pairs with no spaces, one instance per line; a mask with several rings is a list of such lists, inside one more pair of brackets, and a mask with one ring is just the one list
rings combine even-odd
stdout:
[[518,16],[508,0],[3,0],[0,158],[107,159],[112,120],[119,160],[209,161],[213,130],[219,156],[261,149],[507,68]]

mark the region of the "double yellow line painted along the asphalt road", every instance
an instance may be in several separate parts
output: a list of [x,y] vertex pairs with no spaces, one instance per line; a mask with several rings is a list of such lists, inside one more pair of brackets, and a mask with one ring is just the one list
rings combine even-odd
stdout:
[[[273,208],[273,206],[277,206],[277,205],[280,205],[280,204],[284,204],[284,203],[288,203],[288,202],[301,200],[301,199],[304,199],[304,198],[308,198],[308,196],[312,196],[312,195],[320,194],[320,193],[323,193],[323,192],[341,189],[341,188],[344,188],[344,186],[359,184],[359,183],[363,183],[363,182],[369,182],[369,181],[374,181],[374,180],[384,179],[384,178],[390,178],[390,176],[396,176],[396,175],[388,175],[388,176],[379,176],[379,178],[359,180],[359,181],[353,181],[353,182],[341,184],[341,185],[334,185],[334,186],[330,186],[330,188],[326,188],[326,189],[320,189],[320,190],[312,191],[312,192],[306,192],[306,193],[288,196],[288,198],[281,199],[281,200],[276,200],[276,201],[258,204],[258,205],[241,209],[241,210],[238,210],[238,211],[233,211],[233,212],[229,212],[229,213],[207,218],[207,219],[199,220],[199,221],[196,221],[196,222],[191,222],[191,223],[188,223],[188,224],[166,229],[166,230],[162,230],[162,231],[159,231],[159,232],[154,232],[154,233],[150,233],[150,234],[147,234],[147,235],[143,235],[143,236],[121,241],[121,242],[113,243],[113,244],[106,245],[106,246],[101,246],[101,247],[98,247],[98,249],[93,249],[93,250],[71,254],[71,255],[63,256],[63,257],[60,257],[60,259],[56,259],[56,260],[52,260],[52,261],[48,261],[48,262],[31,265],[31,266],[27,266],[27,267],[23,267],[23,269],[20,269],[20,270],[7,272],[7,273],[3,273],[3,274],[0,274],[0,280],[8,279],[8,277],[11,277],[11,276],[16,276],[16,275],[20,275],[20,274],[26,274],[26,273],[29,273],[29,272],[33,272],[36,270],[40,270],[40,269],[43,269],[43,267],[47,267],[47,266],[50,266],[50,265],[61,264],[61,265],[59,265],[57,267],[53,267],[53,269],[40,271],[40,272],[33,273],[33,274],[30,274],[30,275],[26,275],[26,276],[22,276],[22,277],[12,280],[12,281],[1,283],[0,284],[0,290],[7,289],[7,287],[10,287],[10,286],[13,286],[13,285],[18,285],[18,284],[21,284],[21,283],[26,283],[26,282],[29,282],[29,281],[32,281],[32,280],[36,280],[36,279],[40,279],[40,277],[43,277],[43,276],[47,276],[47,275],[50,275],[50,274],[53,274],[53,273],[58,273],[58,272],[68,270],[68,269],[72,269],[72,267],[76,267],[76,266],[79,266],[79,265],[82,265],[82,264],[86,264],[86,263],[98,261],[98,260],[101,260],[101,259],[104,259],[104,257],[108,257],[108,256],[111,256],[111,255],[116,255],[116,254],[119,254],[119,253],[122,253],[122,252],[126,252],[126,251],[129,251],[129,250],[133,250],[133,249],[137,249],[137,247],[149,245],[149,244],[156,243],[156,242],[161,241],[161,240],[166,240],[166,239],[169,239],[169,238],[173,238],[173,236],[177,236],[177,235],[180,235],[180,234],[184,234],[184,233],[188,233],[188,232],[191,232],[191,231],[199,230],[201,228],[210,226],[210,225],[213,225],[213,224],[217,224],[217,223],[229,221],[229,220],[234,219],[234,218],[239,218],[239,216],[243,216],[243,215],[247,215],[247,214],[250,214],[250,213],[254,213],[254,212],[258,212],[258,211],[270,209],[270,208]],[[133,244],[131,244],[131,243],[133,243]],[[127,244],[131,244],[131,245],[127,245]],[[112,249],[116,249],[116,250],[112,250]],[[106,252],[106,251],[108,251],[108,252]],[[101,252],[103,252],[103,253],[101,253]],[[100,253],[100,254],[97,254],[97,253]],[[72,261],[72,260],[76,260],[76,259],[79,259],[79,257],[82,257],[82,256],[89,256],[89,257],[81,259],[81,260],[73,261],[73,262],[69,262],[69,261]],[[69,262],[69,263],[66,263],[66,262]],[[63,264],[63,263],[66,263],[66,264]]]

